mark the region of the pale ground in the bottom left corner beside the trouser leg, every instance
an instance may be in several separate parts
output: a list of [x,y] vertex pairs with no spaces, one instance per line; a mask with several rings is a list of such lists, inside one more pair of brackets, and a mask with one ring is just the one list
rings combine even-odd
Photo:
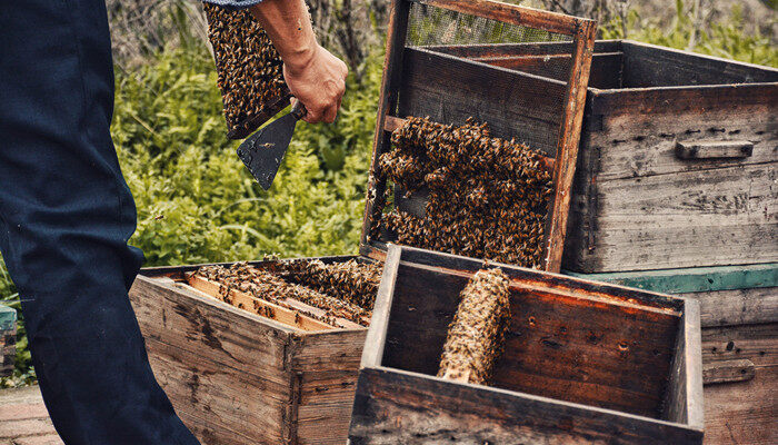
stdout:
[[0,445],[62,445],[38,386],[0,390]]

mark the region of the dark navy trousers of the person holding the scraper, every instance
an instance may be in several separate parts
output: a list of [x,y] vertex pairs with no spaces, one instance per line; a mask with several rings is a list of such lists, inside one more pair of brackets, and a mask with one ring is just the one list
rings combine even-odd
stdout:
[[0,0],[0,250],[51,419],[69,445],[197,444],[127,297],[143,256],[112,108],[103,0]]

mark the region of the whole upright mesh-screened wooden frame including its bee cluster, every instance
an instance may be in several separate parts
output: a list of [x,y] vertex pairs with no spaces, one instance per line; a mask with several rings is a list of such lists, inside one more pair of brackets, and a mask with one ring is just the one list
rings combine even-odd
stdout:
[[[360,253],[559,271],[596,28],[490,0],[392,1]],[[569,43],[563,80],[428,49],[555,41]]]

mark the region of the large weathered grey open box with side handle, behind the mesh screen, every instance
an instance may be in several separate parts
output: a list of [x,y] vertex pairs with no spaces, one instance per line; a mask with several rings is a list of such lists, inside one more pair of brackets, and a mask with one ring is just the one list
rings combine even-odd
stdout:
[[[552,77],[569,44],[433,50]],[[562,268],[778,259],[778,69],[598,41],[586,107]]]

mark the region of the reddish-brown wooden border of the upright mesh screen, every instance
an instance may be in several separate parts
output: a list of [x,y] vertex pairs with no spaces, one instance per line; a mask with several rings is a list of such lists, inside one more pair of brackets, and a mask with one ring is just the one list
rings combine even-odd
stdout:
[[[568,36],[572,40],[571,66],[566,81],[563,105],[559,116],[561,123],[556,131],[556,155],[545,164],[552,168],[553,194],[549,200],[546,229],[543,234],[543,257],[541,269],[558,273],[561,269],[562,248],[567,233],[567,219],[572,195],[572,179],[578,158],[584,108],[586,102],[589,72],[595,47],[597,22],[590,19],[577,18],[556,12],[541,11],[532,8],[505,3],[495,0],[392,0],[387,33],[383,79],[378,103],[378,118],[373,139],[373,158],[368,180],[368,199],[366,201],[362,221],[360,254],[373,259],[386,258],[386,244],[370,239],[373,224],[373,197],[383,194],[386,180],[376,176],[379,171],[379,157],[391,147],[392,123],[398,123],[399,90],[403,83],[403,52],[409,27],[409,13],[412,3],[425,4],[458,13],[476,16],[503,23],[537,29],[546,32]],[[476,65],[477,61],[463,60],[463,63]],[[517,76],[530,75],[515,71]],[[419,116],[421,117],[421,116]],[[450,123],[450,122],[441,122]],[[488,121],[487,121],[488,123]]]

